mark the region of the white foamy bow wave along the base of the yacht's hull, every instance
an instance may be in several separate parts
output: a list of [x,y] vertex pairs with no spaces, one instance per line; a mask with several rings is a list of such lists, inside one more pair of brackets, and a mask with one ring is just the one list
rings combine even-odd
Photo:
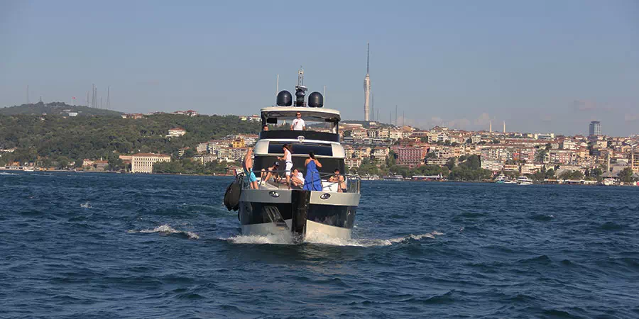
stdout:
[[227,240],[233,244],[273,244],[273,245],[297,245],[297,244],[319,244],[319,245],[331,245],[331,246],[351,246],[351,247],[381,247],[390,246],[393,244],[400,244],[403,242],[409,242],[411,240],[422,240],[423,238],[435,239],[436,236],[444,235],[434,231],[432,233],[425,233],[420,235],[406,235],[403,237],[396,237],[390,239],[350,239],[344,240],[335,237],[329,237],[322,233],[310,233],[306,235],[304,242],[295,242],[293,237],[287,235],[236,235],[229,238],[220,238],[221,240]]

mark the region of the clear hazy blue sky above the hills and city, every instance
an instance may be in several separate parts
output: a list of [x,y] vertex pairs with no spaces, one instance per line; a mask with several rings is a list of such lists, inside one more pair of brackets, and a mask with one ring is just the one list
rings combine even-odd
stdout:
[[[182,3],[178,3],[182,2]],[[224,3],[228,2],[228,3]],[[639,1],[0,1],[0,107],[259,113],[297,69],[364,119],[366,43],[383,122],[639,134]],[[377,111],[376,111],[377,113]]]

